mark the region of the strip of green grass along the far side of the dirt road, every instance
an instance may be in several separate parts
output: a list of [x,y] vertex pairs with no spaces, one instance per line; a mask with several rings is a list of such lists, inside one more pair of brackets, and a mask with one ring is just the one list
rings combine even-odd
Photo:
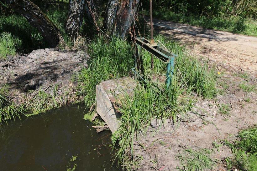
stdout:
[[[145,15],[149,15],[149,11],[144,11]],[[185,23],[203,28],[222,30],[231,33],[240,33],[248,36],[257,37],[257,20],[252,18],[234,17],[207,17],[176,14],[168,9],[160,9],[153,11],[153,17],[169,20],[176,23]]]

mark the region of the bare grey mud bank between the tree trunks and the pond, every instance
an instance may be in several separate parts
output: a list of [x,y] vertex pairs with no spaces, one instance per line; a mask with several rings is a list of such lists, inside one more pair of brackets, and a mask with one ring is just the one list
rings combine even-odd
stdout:
[[87,53],[64,52],[54,48],[34,50],[30,54],[8,57],[0,62],[0,86],[9,90],[15,103],[40,89],[51,93],[57,86],[57,94],[72,96],[76,85],[71,81],[82,67],[87,67]]

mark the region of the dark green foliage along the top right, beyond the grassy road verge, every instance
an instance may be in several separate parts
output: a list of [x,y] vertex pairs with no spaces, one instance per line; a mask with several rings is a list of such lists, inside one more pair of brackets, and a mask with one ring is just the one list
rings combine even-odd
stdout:
[[[257,19],[256,0],[152,0],[153,8],[169,9],[178,14],[229,17],[231,15]],[[149,9],[149,1],[142,1]]]

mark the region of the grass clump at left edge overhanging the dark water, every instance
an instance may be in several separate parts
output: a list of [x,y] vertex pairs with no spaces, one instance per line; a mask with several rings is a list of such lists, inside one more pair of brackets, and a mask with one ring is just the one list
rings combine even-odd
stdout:
[[0,123],[3,121],[7,123],[8,119],[19,118],[20,114],[24,112],[23,105],[16,105],[12,100],[10,100],[6,92],[0,89]]

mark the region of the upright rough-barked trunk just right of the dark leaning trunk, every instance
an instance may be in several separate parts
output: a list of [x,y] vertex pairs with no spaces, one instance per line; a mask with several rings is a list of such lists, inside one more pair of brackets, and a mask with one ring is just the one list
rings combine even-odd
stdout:
[[82,25],[85,0],[70,0],[69,17],[66,22],[66,33],[76,39]]

